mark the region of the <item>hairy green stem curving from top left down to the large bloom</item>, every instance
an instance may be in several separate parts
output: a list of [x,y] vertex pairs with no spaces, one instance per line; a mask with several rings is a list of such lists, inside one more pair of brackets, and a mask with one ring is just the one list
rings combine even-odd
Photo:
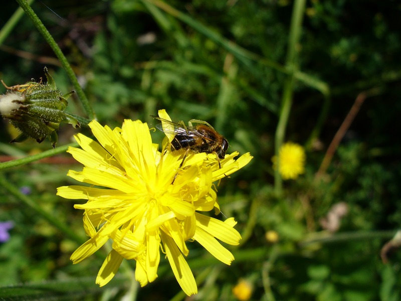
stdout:
[[16,0],[20,7],[24,10],[24,12],[31,18],[31,20],[34,22],[36,28],[38,31],[42,34],[42,36],[45,38],[49,46],[53,49],[54,53],[56,54],[57,58],[60,60],[60,63],[64,67],[65,71],[67,72],[68,77],[70,78],[72,84],[74,85],[75,90],[77,91],[77,94],[81,100],[82,106],[88,115],[89,119],[94,119],[95,114],[93,112],[93,109],[88,101],[88,98],[86,98],[86,95],[84,91],[82,90],[81,86],[78,83],[78,79],[74,74],[74,71],[72,70],[70,64],[67,61],[67,58],[64,56],[63,52],[61,51],[60,47],[57,45],[56,41],[53,39],[52,35],[49,33],[49,31],[46,29],[46,27],[43,25],[42,21],[39,19],[39,17],[35,14],[35,12],[32,10],[31,6],[28,4],[26,0]]

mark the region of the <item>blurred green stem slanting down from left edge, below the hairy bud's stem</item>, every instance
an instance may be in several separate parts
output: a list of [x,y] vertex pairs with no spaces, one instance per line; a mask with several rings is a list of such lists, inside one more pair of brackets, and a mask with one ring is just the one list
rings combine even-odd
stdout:
[[82,237],[72,231],[70,227],[61,222],[59,218],[57,218],[52,213],[43,210],[42,207],[35,200],[20,192],[20,190],[16,186],[7,181],[6,177],[3,174],[0,174],[0,185],[10,194],[18,198],[23,204],[33,209],[49,223],[65,233],[70,239],[76,241],[79,244],[82,244],[85,241]]

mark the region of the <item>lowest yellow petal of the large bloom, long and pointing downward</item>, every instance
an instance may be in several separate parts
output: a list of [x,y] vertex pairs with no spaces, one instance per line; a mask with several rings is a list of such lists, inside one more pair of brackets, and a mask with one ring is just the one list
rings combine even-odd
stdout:
[[171,265],[172,272],[174,273],[178,284],[188,296],[197,293],[195,278],[193,277],[191,269],[189,268],[188,263],[186,263],[184,256],[178,250],[171,237],[164,234],[163,231],[160,232],[160,235],[168,262]]

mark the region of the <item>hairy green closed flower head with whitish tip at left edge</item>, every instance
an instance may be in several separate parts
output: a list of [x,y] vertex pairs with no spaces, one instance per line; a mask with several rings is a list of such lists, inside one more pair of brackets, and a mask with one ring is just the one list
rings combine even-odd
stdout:
[[57,143],[60,123],[70,123],[80,127],[77,119],[64,112],[67,99],[74,91],[62,94],[45,67],[47,83],[27,82],[24,85],[8,87],[7,93],[0,96],[0,114],[10,119],[21,134],[12,142],[22,142],[28,137],[39,143],[49,137],[52,146]]

